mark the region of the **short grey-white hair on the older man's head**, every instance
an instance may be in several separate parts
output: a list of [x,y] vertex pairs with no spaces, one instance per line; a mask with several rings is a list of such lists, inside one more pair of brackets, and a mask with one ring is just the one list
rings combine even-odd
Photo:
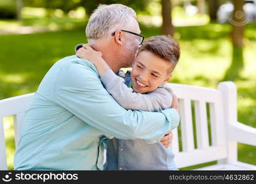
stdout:
[[123,4],[101,4],[91,14],[85,29],[87,39],[103,39],[111,37],[117,29],[128,27],[136,13]]

